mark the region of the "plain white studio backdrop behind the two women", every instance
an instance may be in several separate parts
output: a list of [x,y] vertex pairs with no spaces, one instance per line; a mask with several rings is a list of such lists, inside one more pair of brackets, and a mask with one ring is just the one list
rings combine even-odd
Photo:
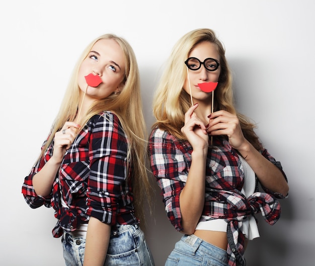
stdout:
[[[133,47],[148,130],[152,95],[175,42],[196,28],[216,31],[234,72],[238,109],[258,125],[290,185],[282,217],[259,221],[252,266],[311,266],[315,243],[313,1],[6,1],[0,4],[1,265],[64,265],[53,210],[30,209],[21,194],[85,46],[115,33]],[[182,236],[167,220],[160,191],[146,238],[157,266]]]

